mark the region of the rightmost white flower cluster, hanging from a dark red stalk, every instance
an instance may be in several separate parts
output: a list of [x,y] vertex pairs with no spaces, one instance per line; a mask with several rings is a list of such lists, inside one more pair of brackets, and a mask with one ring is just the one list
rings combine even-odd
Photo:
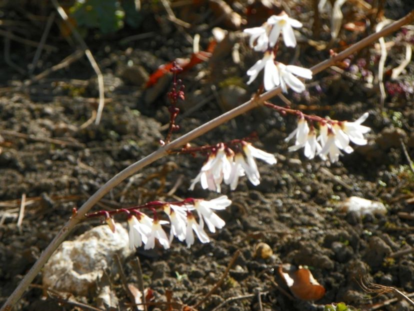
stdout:
[[363,134],[367,133],[370,128],[361,125],[367,117],[368,112],[353,122],[322,119],[319,121],[319,136],[316,137],[313,124],[309,127],[304,115],[301,114],[297,127],[286,137],[285,141],[294,136],[295,143],[289,147],[289,151],[304,147],[304,155],[307,158],[312,159],[315,155],[319,155],[323,160],[329,159],[333,163],[339,159],[339,155],[342,155],[341,150],[346,153],[353,151],[349,142],[357,145],[367,143]]

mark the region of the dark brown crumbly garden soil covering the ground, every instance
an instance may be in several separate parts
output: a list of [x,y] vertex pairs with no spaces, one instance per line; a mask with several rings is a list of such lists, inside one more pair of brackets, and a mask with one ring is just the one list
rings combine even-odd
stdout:
[[[392,12],[392,18],[400,17],[404,10],[408,10],[404,5],[401,1],[389,1],[385,15]],[[98,93],[96,78],[85,58],[39,80],[30,80],[27,73],[19,73],[9,62],[2,63],[0,134],[4,141],[0,154],[0,304],[70,217],[72,208],[79,207],[118,171],[156,150],[159,139],[164,138],[169,119],[166,92],[171,86],[171,77],[166,75],[148,89],[142,84],[148,73],[160,64],[175,57],[188,57],[192,52],[189,38],[195,33],[200,34],[200,46],[205,48],[211,27],[204,20],[199,25],[205,27],[185,29],[169,21],[162,6],[154,7],[143,5],[145,22],[138,29],[126,26],[110,35],[89,30],[86,43],[105,77],[107,100],[99,125],[92,123],[82,127],[97,106]],[[36,11],[36,14],[40,13]],[[35,22],[23,18],[26,15],[22,9],[15,7],[8,7],[4,14],[18,16],[25,27]],[[189,12],[177,8],[176,14],[185,19]],[[196,17],[211,14],[211,7],[201,4],[194,8],[195,16],[190,17],[197,20]],[[292,14],[300,19],[299,11]],[[186,20],[190,21],[190,17]],[[311,23],[300,20],[304,22],[303,33],[310,33]],[[328,19],[322,22],[329,25]],[[43,24],[30,29],[31,39],[40,39]],[[227,29],[231,31],[229,27]],[[122,40],[132,34],[150,31],[153,31],[150,38],[126,43]],[[399,31],[387,41],[400,42],[405,32]],[[324,35],[328,37],[329,32],[322,33],[321,38]],[[358,38],[354,33],[346,35],[342,34],[342,37],[350,38],[343,43]],[[180,76],[186,86],[186,100],[180,103],[180,130],[174,137],[240,104],[259,86],[258,82],[245,86],[245,71],[258,55],[249,50],[240,34],[234,34],[233,39],[239,43],[239,63],[232,61],[231,48],[223,48],[222,55],[214,61],[197,64]],[[70,42],[54,24],[46,43],[57,50],[43,52],[34,73],[50,68],[74,51],[75,46]],[[34,47],[11,41],[10,60],[26,71],[34,50]],[[280,61],[291,61],[292,50],[281,48],[279,53]],[[396,44],[388,53],[386,69],[395,67],[405,50],[401,44]],[[327,49],[318,51],[302,39],[300,56],[296,60],[310,67],[327,55]],[[372,60],[371,66],[368,64],[364,68],[375,76],[378,58],[371,47],[349,61],[356,64],[361,59],[367,59],[368,63]],[[4,53],[0,59],[4,61]],[[229,141],[255,132],[258,140],[254,145],[275,153],[278,162],[273,166],[263,162],[258,164],[261,174],[258,186],[251,185],[244,177],[235,191],[223,187],[222,193],[233,203],[219,212],[226,225],[210,235],[210,243],[195,242],[187,249],[183,243],[174,240],[168,250],[160,247],[152,251],[138,249],[134,256],[123,262],[127,282],[137,283],[133,261],[138,256],[144,285],[153,290],[154,302],[166,301],[166,293],[172,291],[172,301],[193,305],[220,279],[231,257],[239,250],[224,282],[198,307],[199,310],[216,310],[215,307],[226,299],[246,294],[254,295],[234,299],[219,309],[322,310],[325,304],[339,301],[369,309],[373,303],[394,297],[392,293],[364,292],[358,284],[361,275],[369,282],[413,292],[413,252],[399,251],[414,246],[414,200],[411,199],[414,196],[414,173],[407,157],[414,156],[414,68],[409,65],[399,76],[400,81],[406,81],[406,90],[391,94],[387,88],[382,110],[376,80],[373,85],[368,85],[363,76],[357,75],[355,79],[346,74],[347,69],[343,74],[339,71],[326,70],[309,82],[304,94],[289,92],[286,96],[292,101],[292,107],[300,107],[310,114],[328,115],[332,119],[352,120],[368,111],[369,117],[364,124],[372,130],[367,134],[367,146],[355,147],[355,152],[341,156],[339,162],[330,165],[320,159],[308,160],[302,151],[289,153],[289,142],[283,139],[295,128],[296,118],[281,116],[265,108],[239,116],[199,137],[193,145]],[[396,83],[389,75],[385,79]],[[25,81],[31,82],[27,85]],[[200,101],[205,104],[192,110],[191,107]],[[273,102],[282,104],[278,98]],[[407,149],[407,155],[402,145]],[[216,193],[202,190],[199,185],[194,191],[188,190],[190,180],[203,160],[204,156],[199,155],[162,158],[141,170],[131,186],[126,187],[128,180],[118,185],[93,210],[131,206],[154,199],[216,197]],[[166,175],[164,186],[158,178],[140,184],[146,176],[159,172],[170,161],[176,163],[177,168]],[[174,193],[166,195],[174,186]],[[18,226],[23,194],[25,211]],[[386,214],[360,217],[355,212],[344,212],[341,204],[352,195],[383,202]],[[403,217],[406,213],[409,218]],[[126,226],[122,216],[117,220]],[[99,220],[94,219],[79,224],[69,238],[75,238],[98,223]],[[256,251],[261,242],[272,250],[272,255],[264,259]],[[281,263],[307,265],[326,289],[323,298],[309,302],[286,296],[272,282],[274,280],[288,291],[277,273]],[[41,284],[40,274],[33,283]],[[127,309],[125,305],[129,300],[119,274],[110,275],[110,283],[119,299],[119,308]],[[92,306],[95,298],[93,294],[73,297]],[[16,309],[82,308],[56,298],[45,299],[41,289],[30,288]],[[166,310],[166,307],[155,304],[150,309]],[[379,309],[408,310],[409,306],[399,300]]]

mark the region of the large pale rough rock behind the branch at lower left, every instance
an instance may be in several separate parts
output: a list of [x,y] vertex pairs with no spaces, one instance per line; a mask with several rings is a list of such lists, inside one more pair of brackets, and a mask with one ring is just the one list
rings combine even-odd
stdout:
[[43,285],[87,296],[103,270],[112,265],[115,253],[120,258],[132,253],[128,232],[120,223],[116,223],[115,233],[107,225],[94,227],[57,248],[44,265]]

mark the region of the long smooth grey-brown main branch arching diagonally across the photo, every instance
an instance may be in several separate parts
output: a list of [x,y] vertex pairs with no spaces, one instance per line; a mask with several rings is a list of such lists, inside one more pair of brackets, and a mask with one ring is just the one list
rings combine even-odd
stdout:
[[[350,54],[372,44],[375,40],[377,40],[379,37],[388,35],[389,33],[396,31],[401,26],[410,23],[414,20],[414,10],[412,10],[410,13],[405,15],[404,17],[400,18],[399,20],[393,22],[390,25],[385,26],[382,28],[381,31],[375,32],[370,34],[369,36],[363,38],[362,40],[358,41],[357,43],[351,45],[350,47],[344,49],[340,53],[334,55],[333,57],[326,59],[313,67],[311,67],[311,70],[313,74],[316,74],[327,67],[335,64],[337,61],[349,56]],[[7,300],[1,307],[0,311],[9,311],[11,307],[17,302],[17,300],[21,297],[21,295],[24,293],[26,288],[29,286],[31,281],[34,279],[34,277],[37,275],[37,273],[40,271],[40,269],[43,267],[43,265],[46,263],[48,258],[52,255],[54,250],[60,245],[61,242],[64,241],[66,236],[71,232],[73,227],[79,223],[81,220],[84,219],[84,215],[89,211],[92,206],[96,204],[106,193],[108,193],[112,188],[114,188],[116,185],[118,185],[122,180],[129,177],[130,175],[136,173],[139,169],[149,165],[150,163],[153,163],[157,159],[165,156],[168,154],[170,150],[176,149],[185,143],[193,140],[194,138],[208,132],[209,130],[217,127],[218,125],[221,125],[228,120],[243,114],[244,112],[247,112],[257,106],[260,106],[264,101],[276,96],[281,92],[281,88],[276,87],[274,89],[271,89],[253,99],[250,99],[246,101],[245,103],[231,109],[230,111],[227,111],[216,118],[198,126],[197,128],[189,131],[188,133],[182,135],[181,137],[171,141],[170,143],[158,148],[156,151],[148,154],[147,156],[141,158],[140,160],[136,161],[135,163],[129,165],[119,173],[117,173],[115,176],[113,176],[111,179],[109,179],[104,185],[102,185],[92,196],[90,196],[83,205],[79,208],[76,215],[71,217],[59,230],[59,232],[56,234],[56,236],[53,238],[52,241],[47,245],[47,247],[43,250],[39,258],[36,260],[36,262],[33,264],[33,266],[30,268],[30,270],[24,275],[23,279],[20,281],[20,283],[17,285],[17,287],[14,289],[14,291],[8,296]]]

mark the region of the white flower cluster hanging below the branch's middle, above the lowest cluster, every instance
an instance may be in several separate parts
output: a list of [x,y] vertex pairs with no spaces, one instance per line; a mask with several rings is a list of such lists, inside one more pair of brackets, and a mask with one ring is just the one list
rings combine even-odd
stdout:
[[260,183],[260,174],[254,158],[259,158],[268,164],[275,164],[276,158],[273,154],[257,149],[246,141],[241,141],[241,149],[234,152],[223,143],[209,154],[207,161],[201,167],[198,175],[192,180],[189,187],[194,189],[200,182],[203,189],[221,192],[221,183],[230,185],[230,189],[237,187],[238,178],[247,175],[253,185]]

